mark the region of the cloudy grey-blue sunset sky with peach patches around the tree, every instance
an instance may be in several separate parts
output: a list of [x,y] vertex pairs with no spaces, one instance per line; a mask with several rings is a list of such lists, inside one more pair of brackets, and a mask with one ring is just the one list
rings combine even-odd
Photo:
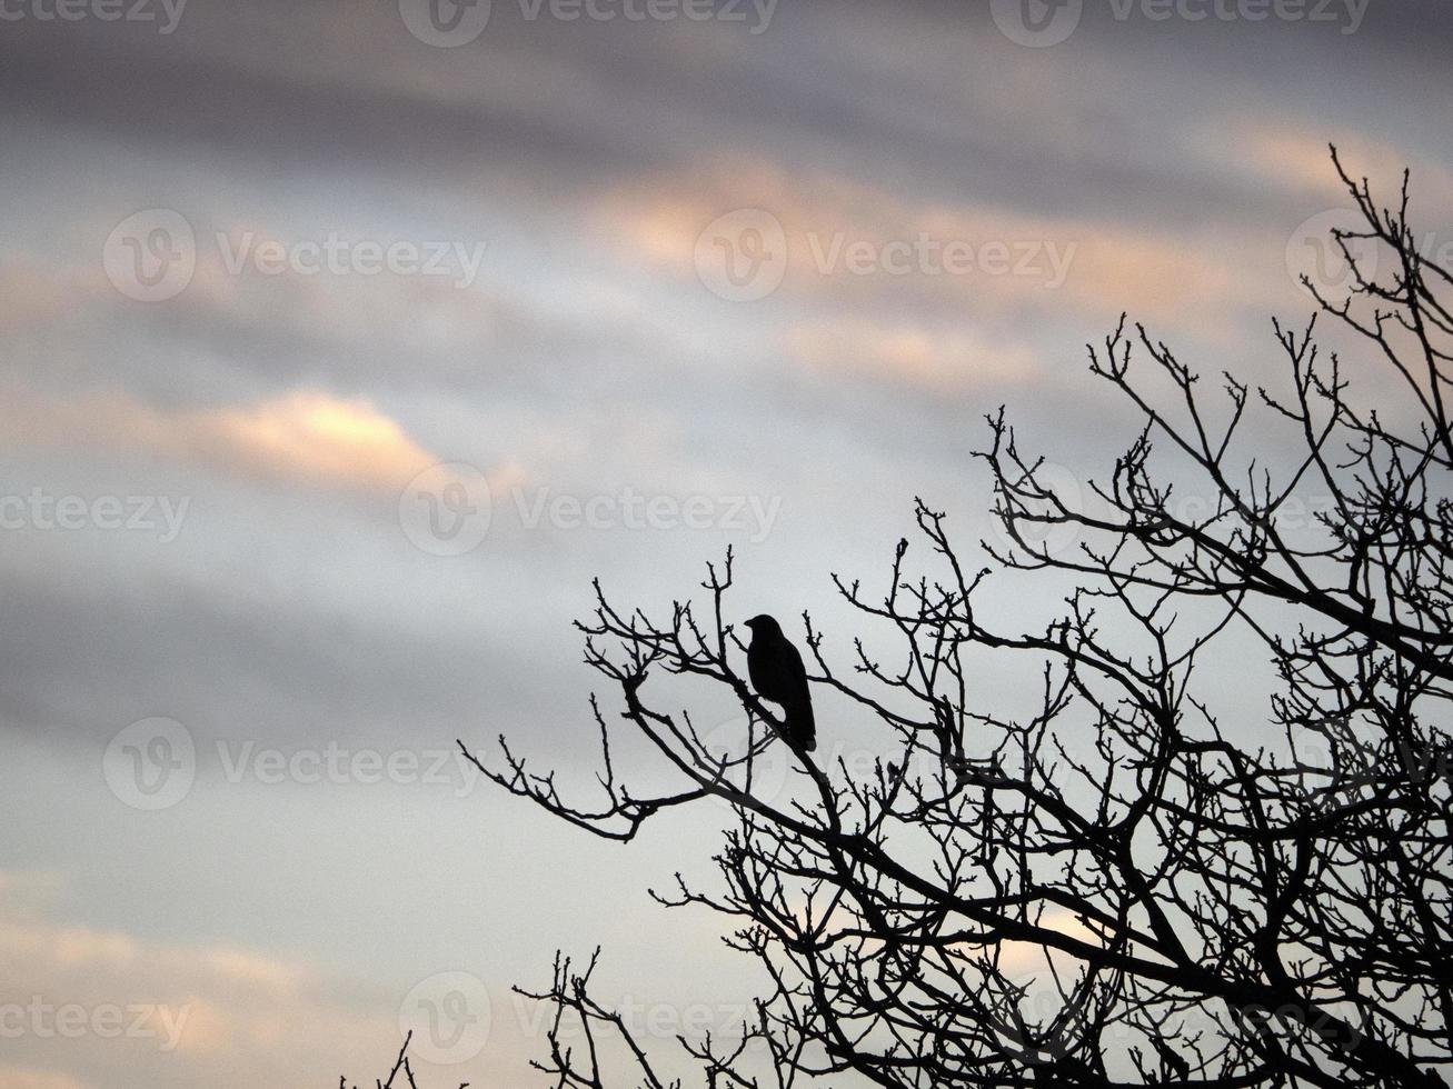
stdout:
[[510,984],[597,944],[648,1041],[731,1024],[751,966],[645,892],[725,815],[607,847],[455,739],[588,787],[591,578],[660,610],[728,546],[741,617],[847,661],[828,574],[915,495],[992,539],[987,412],[1103,479],[1125,311],[1274,380],[1329,141],[1447,261],[1450,42],[1438,0],[0,0],[0,1089],[371,1083],[410,1028],[430,1085],[529,1083]]

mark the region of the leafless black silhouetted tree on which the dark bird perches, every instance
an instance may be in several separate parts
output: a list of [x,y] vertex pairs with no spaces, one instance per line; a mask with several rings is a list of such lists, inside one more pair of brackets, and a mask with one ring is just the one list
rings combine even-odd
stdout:
[[[1213,398],[1122,321],[1090,370],[1144,428],[1107,478],[1067,495],[1000,411],[979,454],[1003,529],[981,542],[991,562],[971,568],[920,502],[921,569],[904,540],[881,588],[834,576],[863,639],[840,646],[804,614],[824,735],[838,710],[869,719],[870,768],[792,752],[793,788],[754,790],[786,746],[742,678],[731,553],[664,620],[597,584],[581,624],[613,693],[609,710],[593,701],[597,800],[503,738],[477,759],[609,839],[709,796],[731,804],[716,887],[658,896],[722,915],[772,980],[735,1038],[681,1041],[706,1085],[1447,1085],[1453,273],[1418,253],[1407,176],[1382,208],[1332,160],[1363,221],[1335,232],[1351,290],[1308,287],[1396,378],[1373,391],[1385,404],[1353,399],[1316,318],[1276,327],[1289,392],[1225,375]],[[1295,456],[1273,469],[1248,449],[1277,427]],[[1289,524],[1309,491],[1325,502]],[[1004,610],[982,607],[1016,578],[1067,588],[1043,627],[1004,630]],[[1274,668],[1267,693],[1251,720],[1222,722],[1228,666],[1210,664],[1247,646]],[[1032,700],[987,706],[976,678],[1026,665]],[[671,675],[745,710],[742,754],[667,701]],[[619,729],[679,788],[634,793]],[[613,1037],[632,1083],[667,1085],[591,999],[593,967],[556,960],[535,995],[555,1008],[539,1069],[604,1086]],[[567,1045],[562,1019],[588,1031]],[[766,1072],[744,1061],[748,1041]]]

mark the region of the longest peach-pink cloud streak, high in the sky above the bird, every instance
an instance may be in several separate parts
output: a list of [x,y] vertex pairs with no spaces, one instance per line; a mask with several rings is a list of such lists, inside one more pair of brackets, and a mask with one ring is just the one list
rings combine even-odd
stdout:
[[[978,318],[1023,319],[1068,308],[1096,321],[1113,321],[1125,309],[1149,321],[1209,309],[1218,315],[1207,324],[1213,330],[1228,309],[1264,302],[1267,283],[1283,274],[1280,245],[1261,253],[1255,240],[1212,229],[1026,215],[972,195],[920,202],[761,160],[715,160],[639,179],[607,193],[596,216],[631,260],[695,279],[702,231],[737,209],[763,209],[780,222],[788,264],[779,292],[815,306],[857,309],[907,295]],[[972,254],[969,267],[944,270],[950,244]],[[854,245],[873,253],[897,247],[904,272],[856,273],[846,260]]]

